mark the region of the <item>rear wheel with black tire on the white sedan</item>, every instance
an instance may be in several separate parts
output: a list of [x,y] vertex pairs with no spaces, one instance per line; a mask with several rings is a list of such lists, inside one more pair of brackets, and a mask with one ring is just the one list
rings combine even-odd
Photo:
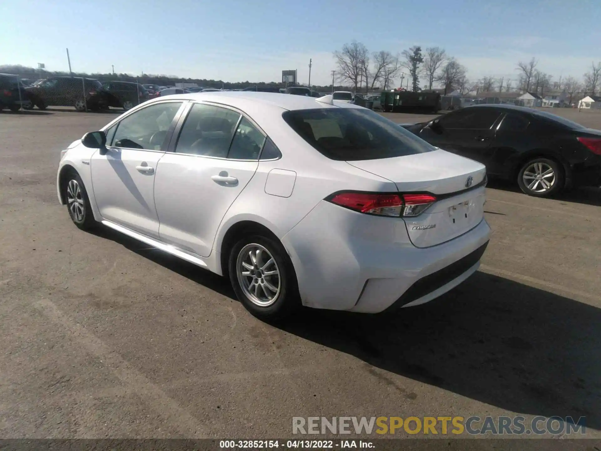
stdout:
[[292,262],[275,239],[242,238],[231,249],[228,269],[237,298],[257,318],[282,321],[301,306]]

